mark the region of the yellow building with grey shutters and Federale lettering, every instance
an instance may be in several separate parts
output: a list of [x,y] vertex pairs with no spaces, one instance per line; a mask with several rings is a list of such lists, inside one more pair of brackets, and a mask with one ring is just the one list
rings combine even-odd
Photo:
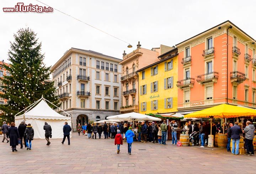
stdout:
[[160,60],[138,70],[139,113],[177,112],[178,53],[174,48],[158,57]]

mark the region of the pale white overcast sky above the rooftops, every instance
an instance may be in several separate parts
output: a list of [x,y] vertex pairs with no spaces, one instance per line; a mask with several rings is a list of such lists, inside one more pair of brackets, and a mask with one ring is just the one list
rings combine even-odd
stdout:
[[121,42],[58,11],[4,13],[2,7],[42,5],[36,0],[0,0],[0,60],[7,61],[13,34],[30,27],[42,42],[44,63],[52,66],[71,47],[94,50],[122,59],[136,48],[172,46],[219,23],[230,20],[256,38],[255,1],[238,0],[40,0],[55,9],[102,29]]

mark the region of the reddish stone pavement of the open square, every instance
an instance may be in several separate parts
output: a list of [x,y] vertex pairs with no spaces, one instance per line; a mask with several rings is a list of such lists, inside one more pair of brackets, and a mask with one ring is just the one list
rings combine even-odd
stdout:
[[[2,137],[0,137],[2,138]],[[114,140],[73,135],[71,145],[60,139],[33,140],[32,150],[0,142],[0,173],[256,173],[255,156],[234,156],[219,148],[177,147],[158,143],[127,143],[117,154]]]

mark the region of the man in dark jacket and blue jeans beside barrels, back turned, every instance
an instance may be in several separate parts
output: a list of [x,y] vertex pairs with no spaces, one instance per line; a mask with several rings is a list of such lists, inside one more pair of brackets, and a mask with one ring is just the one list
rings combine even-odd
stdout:
[[[238,122],[235,122],[235,125],[230,128],[231,138],[232,138],[232,154],[239,155],[239,141],[240,134],[242,134],[241,128],[238,126]],[[235,148],[236,143],[236,148]]]

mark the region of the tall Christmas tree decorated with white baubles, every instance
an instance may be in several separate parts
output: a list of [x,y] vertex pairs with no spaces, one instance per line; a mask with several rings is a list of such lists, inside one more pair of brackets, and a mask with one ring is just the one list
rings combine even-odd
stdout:
[[[54,82],[50,81],[50,67],[43,63],[41,43],[30,28],[20,29],[14,34],[14,42],[8,52],[11,65],[4,67],[10,76],[4,76],[1,98],[7,99],[0,105],[2,120],[14,121],[14,115],[44,98],[59,106],[55,96]],[[53,107],[53,106],[51,106]]]

